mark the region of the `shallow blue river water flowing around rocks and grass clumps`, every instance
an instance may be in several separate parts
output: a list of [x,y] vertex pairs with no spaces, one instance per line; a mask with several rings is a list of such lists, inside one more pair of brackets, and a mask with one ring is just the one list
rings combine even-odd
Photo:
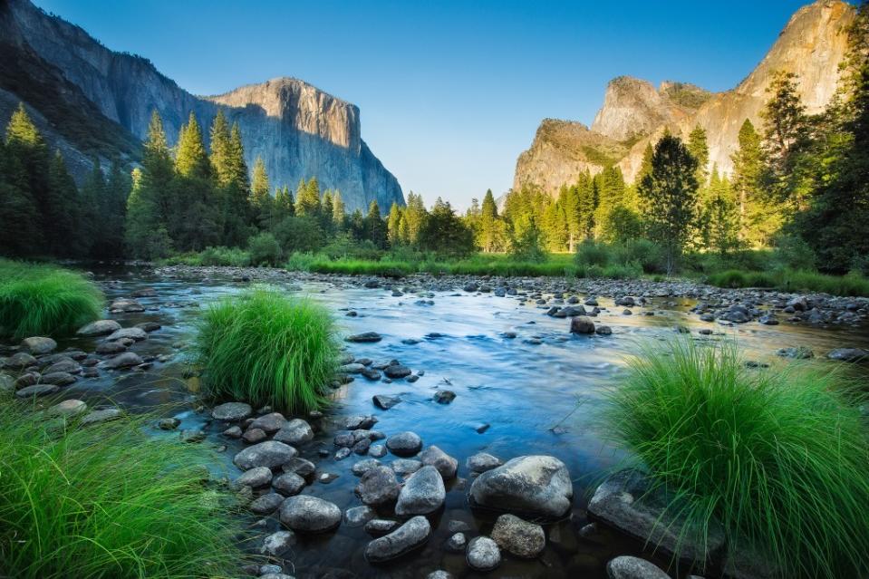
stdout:
[[[95,275],[110,301],[146,287],[156,290],[156,297],[137,298],[146,312],[111,317],[125,327],[146,321],[160,323],[162,328],[151,333],[147,341],[135,344],[132,351],[143,357],[163,355],[168,360],[155,362],[148,372],[103,372],[100,378],[83,379],[64,389],[63,396],[86,400],[92,406],[111,400],[131,411],[172,404],[170,414],[182,420],[181,429],[205,429],[209,437],[204,444],[228,447],[221,455],[225,460],[215,469],[230,478],[237,476],[230,461],[242,443],[221,437],[223,427],[211,424],[208,412],[194,410],[198,402],[191,390],[196,389],[196,379],[185,377],[188,348],[202,308],[249,284],[228,279],[163,278],[152,270],[131,268],[101,270]],[[575,485],[573,513],[546,527],[544,554],[531,561],[505,555],[502,565],[487,576],[605,577],[604,567],[610,558],[638,555],[642,545],[606,529],[591,535],[579,533],[588,522],[584,513],[588,494],[607,469],[623,459],[606,444],[605,433],[594,416],[603,391],[616,387],[624,361],[638,343],[670,338],[673,327],[679,324],[700,340],[735,336],[748,358],[758,361],[776,360],[776,350],[787,346],[805,345],[821,356],[843,345],[869,347],[865,327],[821,329],[784,322],[778,326],[746,323],[727,327],[700,322],[696,314],[688,312],[692,302],[671,298],[634,307],[632,315],[623,314],[623,307],[614,306],[611,300],[599,298],[600,306],[607,309],[595,323],[613,328],[613,335],[604,337],[572,336],[569,320],[547,316],[548,306],[537,305],[533,299],[521,304],[522,295],[497,297],[459,289],[392,296],[391,290],[382,287],[364,289],[298,280],[278,286],[333,310],[343,335],[381,333],[380,343],[348,344],[348,351],[357,358],[397,359],[414,373],[424,371],[415,383],[371,382],[357,377],[336,391],[326,417],[312,422],[314,429],[320,430],[317,437],[301,447],[300,453],[313,460],[319,472],[338,477],[328,484],[314,482],[304,493],[331,500],[343,509],[361,505],[352,492],[358,479],[351,468],[364,457],[351,455],[335,461],[317,454],[319,449],[333,453],[333,420],[346,415],[373,414],[379,419],[375,429],[387,435],[412,430],[425,445],[436,444],[459,459],[459,481],[448,484],[444,510],[430,517],[434,531],[423,549],[388,565],[369,565],[362,554],[372,537],[362,527],[342,525],[325,536],[299,537],[285,563],[285,572],[297,577],[424,577],[435,569],[458,577],[477,576],[468,568],[464,555],[450,554],[443,544],[451,535],[447,529],[450,520],[472,526],[474,531],[468,538],[488,534],[494,523],[494,515],[472,512],[467,503],[471,478],[464,463],[479,451],[503,460],[526,454],[554,455],[565,462]],[[401,288],[401,281],[394,286]],[[419,304],[420,297],[433,304]],[[358,315],[346,316],[348,309]],[[700,336],[697,330],[701,327],[711,327],[715,333]],[[502,337],[505,332],[514,332],[517,337]],[[402,343],[408,339],[419,343]],[[61,346],[92,352],[96,343],[79,338]],[[438,389],[454,391],[457,397],[450,404],[436,403],[431,397]],[[402,401],[391,410],[379,410],[372,404],[375,394],[399,396]],[[483,425],[488,429],[480,428]],[[388,455],[382,460],[388,463],[391,459]],[[278,528],[273,517],[260,530],[265,533]],[[644,556],[653,559],[652,555]]]

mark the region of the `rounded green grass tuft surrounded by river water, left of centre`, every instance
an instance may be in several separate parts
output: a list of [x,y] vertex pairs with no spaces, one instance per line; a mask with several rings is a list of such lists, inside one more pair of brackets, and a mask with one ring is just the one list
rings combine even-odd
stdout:
[[198,330],[208,395],[294,413],[326,401],[338,345],[323,306],[256,287],[211,305]]

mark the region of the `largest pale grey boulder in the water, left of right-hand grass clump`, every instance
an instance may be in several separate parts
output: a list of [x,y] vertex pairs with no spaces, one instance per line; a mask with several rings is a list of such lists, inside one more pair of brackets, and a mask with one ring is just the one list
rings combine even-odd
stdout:
[[480,507],[544,518],[570,509],[574,487],[565,464],[550,456],[524,456],[482,473],[470,488]]

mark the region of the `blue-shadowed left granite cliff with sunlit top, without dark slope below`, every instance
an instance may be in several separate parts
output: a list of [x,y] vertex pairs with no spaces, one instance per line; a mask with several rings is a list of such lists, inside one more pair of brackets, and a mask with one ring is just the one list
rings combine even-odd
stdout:
[[[367,208],[375,198],[384,210],[393,201],[404,203],[398,180],[362,141],[359,109],[305,82],[275,79],[200,98],[160,74],[150,61],[112,52],[78,26],[44,14],[27,0],[0,1],[0,32],[8,44],[2,49],[4,59],[15,57],[10,52],[33,53],[80,91],[111,123],[111,130],[144,139],[151,111],[156,110],[169,140],[175,140],[190,112],[208,126],[217,109],[224,108],[241,128],[248,166],[253,168],[256,157],[262,157],[273,184],[294,188],[299,179],[315,176],[321,188],[340,189],[351,211]],[[19,94],[20,85],[0,85],[4,101],[14,101],[17,95],[41,113],[39,103]],[[51,119],[50,124],[57,121]],[[79,145],[67,140],[62,150],[81,156]]]

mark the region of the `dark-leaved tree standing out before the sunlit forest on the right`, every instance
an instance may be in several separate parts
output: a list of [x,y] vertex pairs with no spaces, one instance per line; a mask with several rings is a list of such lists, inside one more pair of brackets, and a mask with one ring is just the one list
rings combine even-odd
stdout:
[[682,141],[664,135],[655,145],[652,170],[639,187],[649,236],[663,249],[672,274],[697,217],[697,159]]

